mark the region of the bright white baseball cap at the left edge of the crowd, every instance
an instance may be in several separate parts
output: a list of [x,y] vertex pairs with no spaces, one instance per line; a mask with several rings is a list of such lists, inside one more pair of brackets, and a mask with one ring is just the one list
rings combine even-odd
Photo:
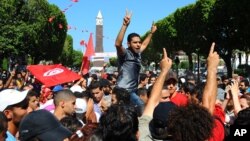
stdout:
[[0,111],[4,111],[8,106],[17,104],[25,99],[28,90],[18,91],[15,89],[5,89],[0,92]]

